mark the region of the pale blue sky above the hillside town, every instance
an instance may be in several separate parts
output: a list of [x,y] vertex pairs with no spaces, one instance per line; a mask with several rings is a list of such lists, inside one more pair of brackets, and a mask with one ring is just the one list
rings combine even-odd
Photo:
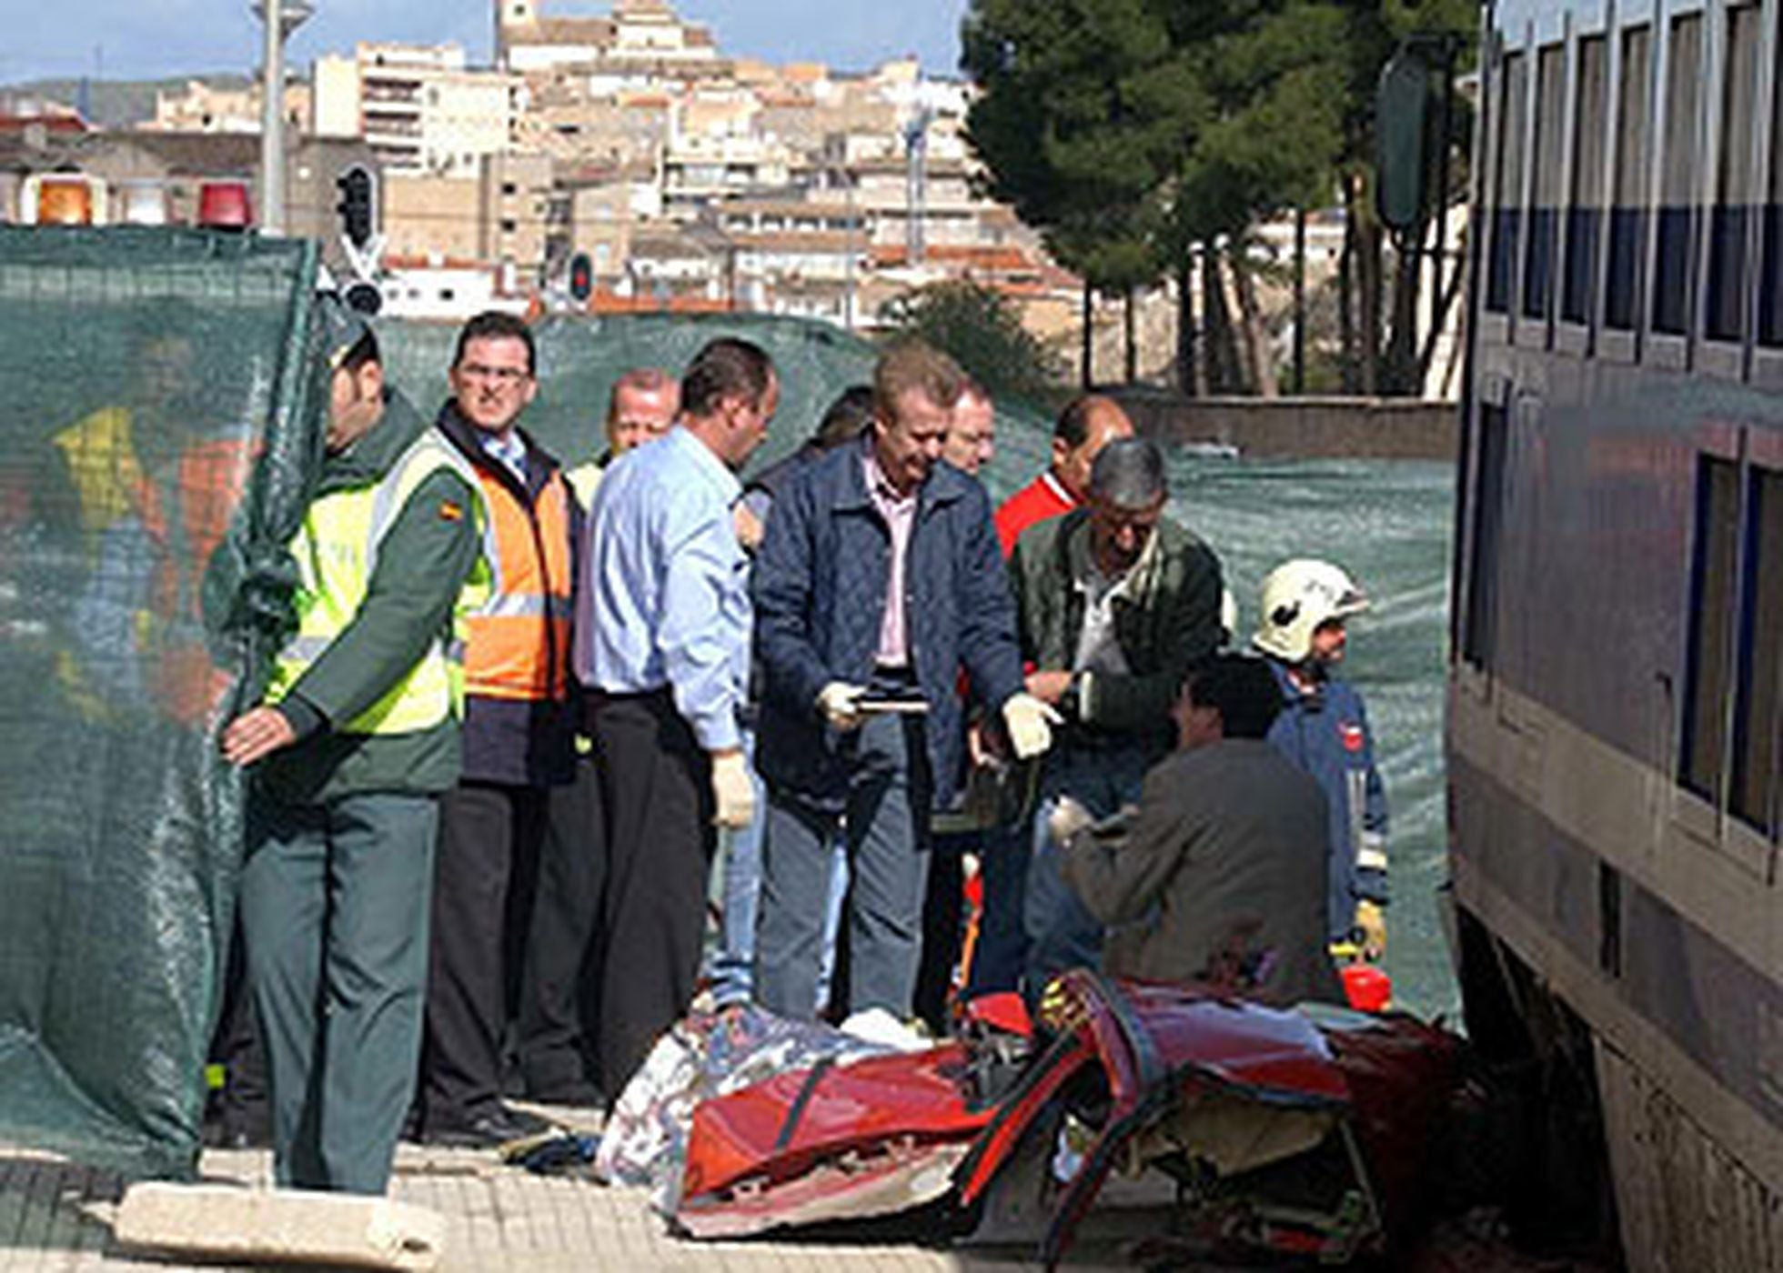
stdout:
[[[456,41],[487,61],[489,0],[314,0],[316,16],[287,45],[307,66],[358,39]],[[604,0],[542,0],[547,16],[608,11]],[[678,0],[713,29],[720,52],[772,62],[820,61],[867,70],[915,53],[938,75],[957,73],[966,0]],[[248,0],[21,0],[7,4],[0,84],[102,73],[159,78],[184,71],[250,71],[260,23]]]

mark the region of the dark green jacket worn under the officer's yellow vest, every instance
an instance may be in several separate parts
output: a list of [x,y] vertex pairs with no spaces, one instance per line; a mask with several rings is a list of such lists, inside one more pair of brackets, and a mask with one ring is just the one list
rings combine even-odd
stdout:
[[[310,497],[374,485],[426,428],[431,424],[392,394],[366,437],[325,460]],[[481,551],[474,501],[476,492],[451,471],[430,474],[410,494],[378,546],[358,615],[278,704],[298,742],[259,767],[269,795],[308,804],[366,792],[423,795],[456,784],[456,720],[412,735],[341,735],[333,726],[383,697],[451,624]]]

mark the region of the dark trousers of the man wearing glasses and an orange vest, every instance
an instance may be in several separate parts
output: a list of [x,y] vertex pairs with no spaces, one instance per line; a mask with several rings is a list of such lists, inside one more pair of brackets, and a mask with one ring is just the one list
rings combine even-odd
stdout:
[[440,797],[423,1127],[501,1100],[501,1038],[519,998],[549,788],[460,783]]

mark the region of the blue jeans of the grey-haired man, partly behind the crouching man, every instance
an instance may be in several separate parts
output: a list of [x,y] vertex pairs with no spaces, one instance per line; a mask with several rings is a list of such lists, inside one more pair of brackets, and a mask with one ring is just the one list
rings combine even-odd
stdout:
[[1150,760],[1150,749],[1122,745],[1089,749],[1063,743],[1047,756],[1022,899],[1022,927],[1029,940],[1023,993],[1029,1004],[1036,1004],[1047,982],[1066,968],[1095,968],[1102,959],[1102,924],[1059,872],[1059,847],[1047,829],[1052,811],[1066,795],[1095,818],[1111,817],[1123,804],[1136,804]]

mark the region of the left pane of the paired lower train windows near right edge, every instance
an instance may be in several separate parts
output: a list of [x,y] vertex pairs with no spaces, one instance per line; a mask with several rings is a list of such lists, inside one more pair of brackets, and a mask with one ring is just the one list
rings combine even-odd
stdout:
[[1721,801],[1728,754],[1728,683],[1733,603],[1738,592],[1740,467],[1703,456],[1697,467],[1696,565],[1690,579],[1690,663],[1685,679],[1678,777],[1710,802]]

